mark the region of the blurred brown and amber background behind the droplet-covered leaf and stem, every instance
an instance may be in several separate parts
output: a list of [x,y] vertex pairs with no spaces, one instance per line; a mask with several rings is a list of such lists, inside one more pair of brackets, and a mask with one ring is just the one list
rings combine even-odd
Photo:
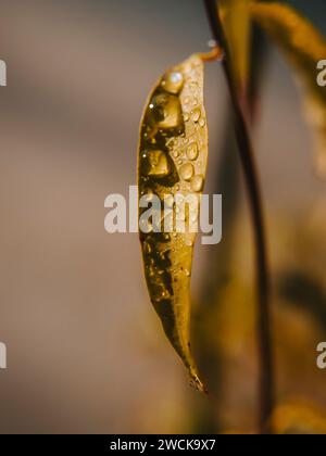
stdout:
[[[323,0],[291,3],[325,28]],[[246,204],[236,232],[224,232],[223,243],[235,239],[231,279],[205,329],[220,353],[212,360],[218,397],[199,397],[188,387],[151,308],[137,236],[103,229],[105,197],[127,194],[135,185],[138,123],[152,84],[166,67],[206,49],[202,2],[1,0],[0,12],[0,58],[8,65],[8,87],[0,89],[0,341],[8,346],[0,432],[252,430]],[[205,77],[206,189],[213,191],[227,98],[217,63]],[[314,175],[300,91],[275,50],[255,147],[268,212],[278,398],[303,397],[326,408],[326,371],[315,365],[316,345],[326,341],[326,186]],[[195,340],[203,278],[223,243],[197,248]],[[223,255],[220,262],[223,268]],[[213,383],[214,371],[204,370]]]

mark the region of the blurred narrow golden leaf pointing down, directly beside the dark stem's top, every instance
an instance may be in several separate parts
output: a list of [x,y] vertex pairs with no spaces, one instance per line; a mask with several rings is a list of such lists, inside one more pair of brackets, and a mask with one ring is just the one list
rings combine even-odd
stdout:
[[220,0],[220,14],[229,46],[236,84],[243,91],[250,62],[251,0]]

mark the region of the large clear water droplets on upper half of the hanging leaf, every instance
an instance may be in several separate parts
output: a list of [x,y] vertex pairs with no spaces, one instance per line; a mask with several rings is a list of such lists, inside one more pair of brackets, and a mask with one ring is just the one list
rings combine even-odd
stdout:
[[[185,84],[188,94],[184,99],[183,112],[179,93]],[[193,192],[202,190],[203,176],[196,173],[195,167],[199,157],[197,138],[189,142],[185,130],[190,124],[198,128],[205,125],[205,118],[196,98],[197,91],[198,83],[196,80],[186,83],[181,72],[173,71],[162,78],[161,88],[153,93],[148,106],[143,136],[150,142],[150,147],[142,153],[145,175],[160,179],[172,172],[167,160],[170,151],[181,181],[189,182]],[[158,149],[158,144],[163,147]],[[185,148],[186,153],[184,153]]]

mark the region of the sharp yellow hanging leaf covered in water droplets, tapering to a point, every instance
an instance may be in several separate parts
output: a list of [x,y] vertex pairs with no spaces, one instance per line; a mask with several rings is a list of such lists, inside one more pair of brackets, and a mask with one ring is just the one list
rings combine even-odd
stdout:
[[[203,56],[191,55],[167,71],[150,93],[140,126],[138,150],[139,226],[145,276],[151,302],[164,331],[188,369],[191,382],[204,387],[190,353],[190,276],[198,212],[176,202],[199,203],[208,160],[203,106]],[[154,202],[166,203],[168,216]],[[151,207],[141,208],[141,200]],[[146,218],[151,211],[151,217]],[[179,230],[185,220],[186,230]],[[164,225],[164,227],[163,227]],[[159,229],[162,232],[156,232]],[[147,231],[147,232],[145,232]]]

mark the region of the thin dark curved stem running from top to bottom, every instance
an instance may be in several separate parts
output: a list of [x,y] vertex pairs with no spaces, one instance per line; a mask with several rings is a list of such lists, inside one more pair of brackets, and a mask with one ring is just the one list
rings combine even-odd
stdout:
[[224,51],[223,68],[234,112],[234,126],[241,165],[244,174],[255,241],[255,274],[258,284],[258,338],[260,363],[260,432],[268,433],[269,418],[274,408],[274,372],[271,342],[269,273],[267,266],[266,236],[261,190],[253,148],[246,123],[246,103],[241,105],[230,65],[229,49],[215,0],[204,0],[214,39]]

